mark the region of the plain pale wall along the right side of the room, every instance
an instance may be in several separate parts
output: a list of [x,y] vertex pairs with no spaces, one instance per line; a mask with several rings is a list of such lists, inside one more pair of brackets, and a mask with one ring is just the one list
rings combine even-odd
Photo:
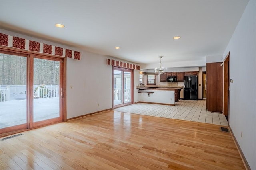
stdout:
[[256,170],[256,0],[248,2],[223,58],[229,51],[234,80],[229,123],[250,168]]

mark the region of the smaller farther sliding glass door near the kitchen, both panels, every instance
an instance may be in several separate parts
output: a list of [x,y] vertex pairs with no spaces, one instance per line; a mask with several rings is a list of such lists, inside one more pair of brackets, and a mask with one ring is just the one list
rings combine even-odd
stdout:
[[113,107],[132,104],[132,70],[113,67]]

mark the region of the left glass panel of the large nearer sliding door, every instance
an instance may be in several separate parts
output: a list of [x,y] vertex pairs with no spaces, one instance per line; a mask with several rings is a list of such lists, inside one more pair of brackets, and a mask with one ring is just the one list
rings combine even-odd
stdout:
[[0,51],[0,131],[26,129],[27,57]]

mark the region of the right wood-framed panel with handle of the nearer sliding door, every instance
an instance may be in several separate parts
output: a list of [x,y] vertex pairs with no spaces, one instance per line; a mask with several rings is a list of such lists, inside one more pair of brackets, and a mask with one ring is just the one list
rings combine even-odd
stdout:
[[61,59],[48,59],[38,56],[33,60],[33,114],[31,127],[54,123],[62,120],[62,84],[60,83]]

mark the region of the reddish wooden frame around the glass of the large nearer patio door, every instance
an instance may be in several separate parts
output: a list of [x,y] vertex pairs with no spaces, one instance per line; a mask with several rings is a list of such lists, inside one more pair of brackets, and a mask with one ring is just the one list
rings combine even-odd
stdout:
[[[49,125],[52,123],[67,121],[66,116],[66,57],[58,57],[55,55],[42,54],[38,52],[26,51],[22,49],[13,49],[11,47],[6,47],[0,45],[0,53],[17,55],[27,58],[27,96],[26,96],[26,108],[27,108],[27,122],[21,125],[15,125],[12,127],[6,127],[1,129],[0,137],[12,135],[14,133],[20,133],[22,131],[27,131],[29,129],[33,129],[36,127],[41,127],[45,125]],[[62,100],[60,101],[60,118],[48,119],[45,121],[39,121],[36,123],[31,123],[33,120],[33,116],[30,113],[33,110],[33,60],[35,58],[40,59],[48,59],[54,61],[60,61],[60,88],[62,87]],[[61,92],[61,90],[60,90]],[[59,96],[61,96],[59,94]]]

